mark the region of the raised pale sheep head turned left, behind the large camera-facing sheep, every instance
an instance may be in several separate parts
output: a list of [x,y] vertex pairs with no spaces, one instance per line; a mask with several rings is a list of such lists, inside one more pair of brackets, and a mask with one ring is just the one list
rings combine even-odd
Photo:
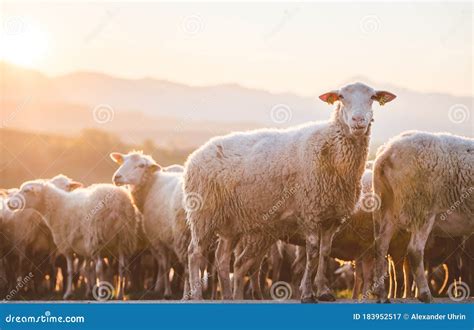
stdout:
[[120,165],[112,178],[117,186],[139,186],[150,175],[161,170],[161,166],[151,156],[144,155],[141,152],[130,152],[126,155],[113,152],[110,154],[110,158]]

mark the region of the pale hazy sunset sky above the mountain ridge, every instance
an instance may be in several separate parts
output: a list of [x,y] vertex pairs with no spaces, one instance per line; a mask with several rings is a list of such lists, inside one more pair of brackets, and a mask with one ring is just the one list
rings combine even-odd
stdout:
[[311,96],[366,77],[474,94],[470,2],[0,6],[0,54],[49,75],[86,70]]

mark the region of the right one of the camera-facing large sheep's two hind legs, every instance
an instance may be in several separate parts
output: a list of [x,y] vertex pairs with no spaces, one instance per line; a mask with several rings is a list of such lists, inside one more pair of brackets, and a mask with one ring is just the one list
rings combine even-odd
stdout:
[[232,258],[232,251],[237,242],[238,240],[236,238],[221,237],[216,249],[217,275],[219,277],[223,300],[232,300],[230,259]]

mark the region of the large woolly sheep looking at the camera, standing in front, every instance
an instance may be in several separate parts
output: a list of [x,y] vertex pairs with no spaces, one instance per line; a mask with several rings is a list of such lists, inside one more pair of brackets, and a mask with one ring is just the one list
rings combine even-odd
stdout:
[[[193,299],[202,299],[196,285],[199,265],[216,234],[223,299],[232,299],[229,262],[240,237],[247,232],[272,232],[285,219],[296,217],[307,246],[301,300],[315,302],[311,278],[318,250],[317,293],[321,300],[334,300],[325,276],[332,237],[359,198],[372,103],[394,98],[362,83],[351,84],[320,96],[324,102],[337,103],[327,122],[232,133],[212,138],[194,151],[184,172],[185,198],[202,201],[187,212]],[[288,196],[276,207],[282,194]]]

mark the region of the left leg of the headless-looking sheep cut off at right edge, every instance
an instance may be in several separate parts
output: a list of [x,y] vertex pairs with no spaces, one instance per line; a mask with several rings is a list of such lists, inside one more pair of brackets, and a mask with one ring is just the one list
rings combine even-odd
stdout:
[[[374,224],[376,225],[375,227],[378,228],[375,230],[375,282],[372,287],[374,293],[377,295],[377,302],[389,303],[390,300],[388,299],[387,290],[385,288],[385,279],[389,274],[388,267],[390,265],[385,257],[392,236],[395,233],[395,225],[386,217],[383,217],[382,219],[384,221],[374,221]],[[368,293],[364,293],[364,297],[366,294]]]

